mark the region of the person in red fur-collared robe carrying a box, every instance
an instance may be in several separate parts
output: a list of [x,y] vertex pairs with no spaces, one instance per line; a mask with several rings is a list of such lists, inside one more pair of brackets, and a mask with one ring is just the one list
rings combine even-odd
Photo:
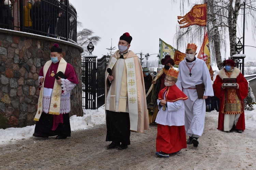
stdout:
[[[214,95],[220,103],[217,129],[231,132],[235,128],[236,132],[242,133],[245,130],[243,100],[248,95],[248,82],[233,60],[226,60],[223,66],[213,84]],[[236,79],[237,86],[225,87],[223,79],[227,78]]]

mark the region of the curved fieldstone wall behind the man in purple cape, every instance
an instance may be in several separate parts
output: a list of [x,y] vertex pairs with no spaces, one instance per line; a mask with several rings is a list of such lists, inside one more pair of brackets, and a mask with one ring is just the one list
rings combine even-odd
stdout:
[[0,30],[0,128],[35,124],[39,97],[38,75],[51,60],[50,48],[58,43],[63,58],[78,76],[71,91],[71,115],[82,116],[81,52],[74,43],[23,32]]

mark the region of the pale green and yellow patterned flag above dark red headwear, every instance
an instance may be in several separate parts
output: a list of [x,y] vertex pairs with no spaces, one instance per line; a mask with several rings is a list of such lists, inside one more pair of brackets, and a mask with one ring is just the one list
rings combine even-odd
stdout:
[[171,58],[174,59],[175,51],[179,50],[173,48],[171,45],[165,43],[165,41],[159,38],[159,64],[161,64],[162,58],[164,58],[166,55],[170,55]]

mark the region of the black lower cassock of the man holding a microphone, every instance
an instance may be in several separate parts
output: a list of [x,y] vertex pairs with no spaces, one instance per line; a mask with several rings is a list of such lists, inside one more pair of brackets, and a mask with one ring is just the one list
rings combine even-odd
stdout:
[[106,111],[106,141],[122,142],[130,145],[129,113]]

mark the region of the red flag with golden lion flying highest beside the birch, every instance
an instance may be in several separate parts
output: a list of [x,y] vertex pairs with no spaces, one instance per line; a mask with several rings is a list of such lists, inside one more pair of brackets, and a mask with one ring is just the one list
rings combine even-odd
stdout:
[[185,15],[178,16],[178,19],[182,19],[179,24],[185,24],[180,26],[180,28],[186,28],[192,25],[206,26],[207,21],[207,4],[195,5],[193,8]]

